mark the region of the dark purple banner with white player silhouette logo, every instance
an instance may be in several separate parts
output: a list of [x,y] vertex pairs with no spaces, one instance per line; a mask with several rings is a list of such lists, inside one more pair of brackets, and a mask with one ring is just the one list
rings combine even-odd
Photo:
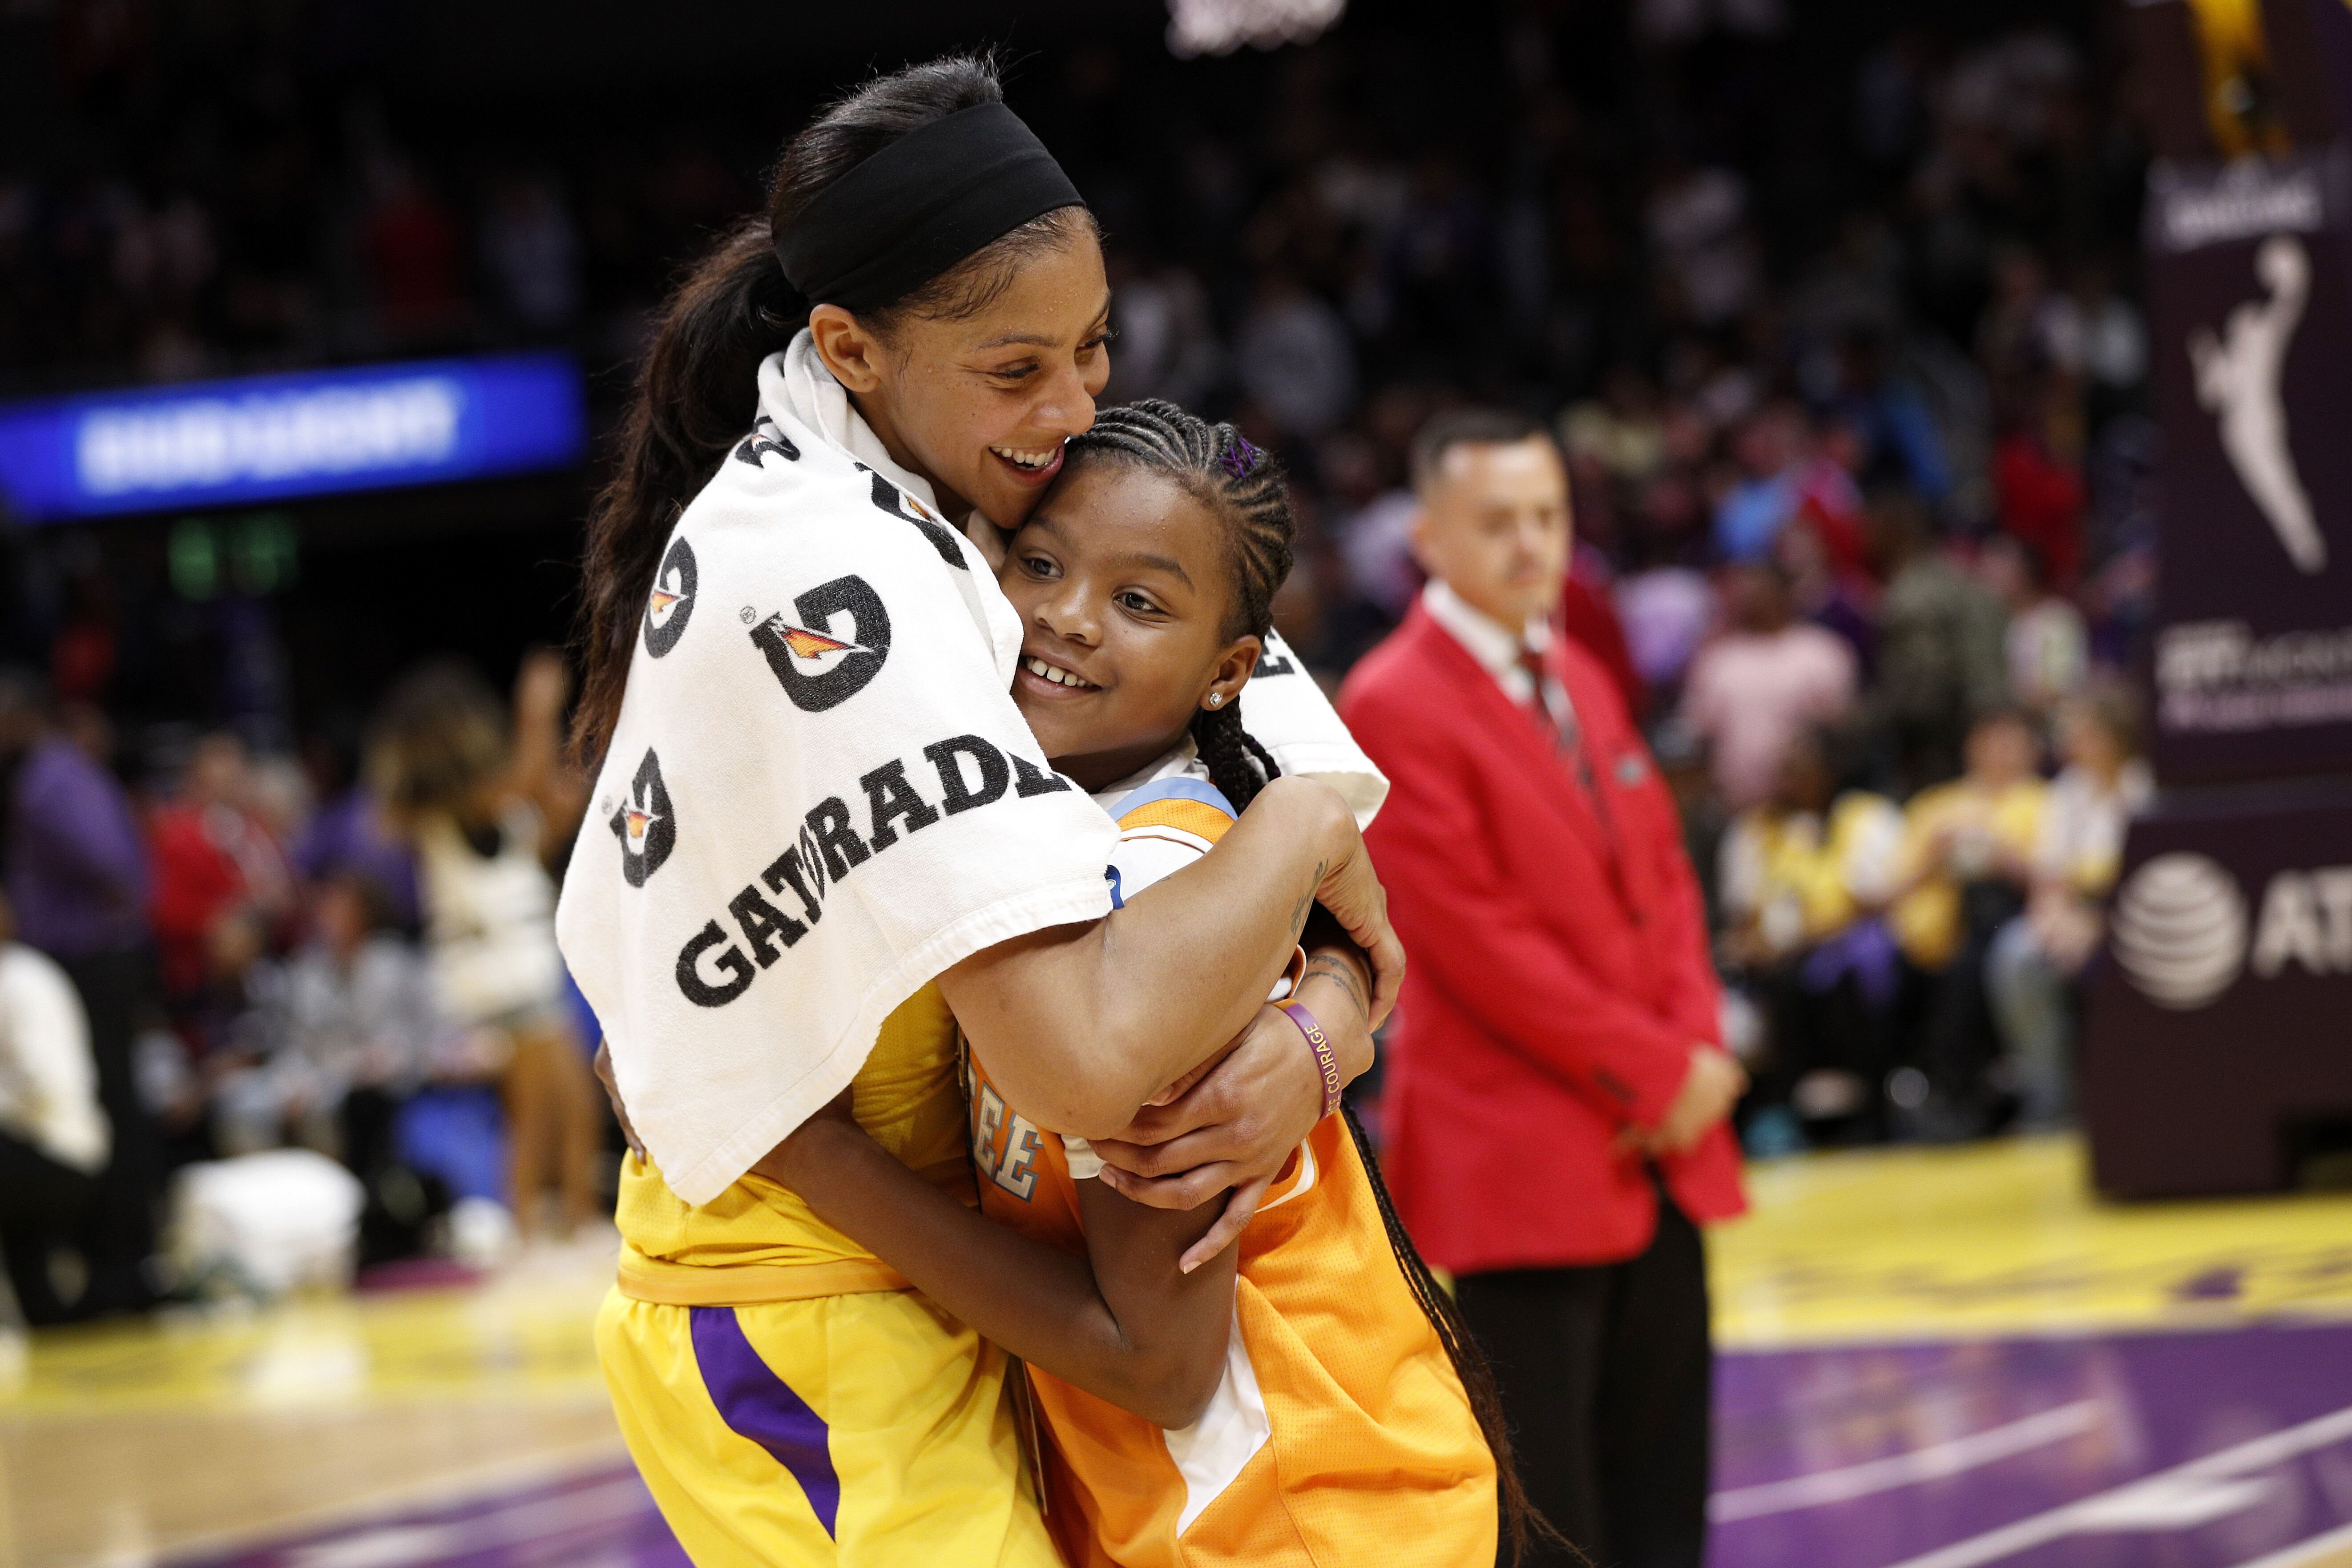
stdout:
[[2352,769],[2352,158],[2159,162],[2166,783]]

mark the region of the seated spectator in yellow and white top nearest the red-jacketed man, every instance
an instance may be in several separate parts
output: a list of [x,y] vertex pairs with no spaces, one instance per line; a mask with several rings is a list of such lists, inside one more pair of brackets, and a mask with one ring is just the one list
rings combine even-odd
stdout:
[[[1766,802],[1722,846],[1724,950],[1762,990],[1766,1060],[1748,1147],[1778,1154],[1825,1128],[1884,1135],[1903,973],[1879,914],[1896,891],[1903,811],[1842,790],[1830,733],[1799,733]],[[1804,1131],[1799,1131],[1799,1126]]]

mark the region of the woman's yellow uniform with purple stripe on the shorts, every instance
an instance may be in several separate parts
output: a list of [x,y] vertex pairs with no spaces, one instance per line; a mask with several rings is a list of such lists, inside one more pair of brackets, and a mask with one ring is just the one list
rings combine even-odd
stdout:
[[[953,1041],[924,987],[851,1091],[882,1147],[971,1201]],[[619,1222],[597,1361],[699,1568],[1058,1568],[1002,1349],[757,1175],[696,1208],[633,1159]]]

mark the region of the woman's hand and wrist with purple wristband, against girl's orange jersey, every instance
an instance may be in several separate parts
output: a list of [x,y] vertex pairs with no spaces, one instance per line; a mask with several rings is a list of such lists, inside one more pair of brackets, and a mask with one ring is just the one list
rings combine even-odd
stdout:
[[[1371,1067],[1371,1027],[1364,1016],[1359,957],[1317,947],[1298,1001],[1338,1056],[1341,1077]],[[1155,1095],[1120,1138],[1096,1138],[1103,1185],[1152,1208],[1197,1208],[1232,1187],[1225,1213],[1185,1248],[1181,1267],[1216,1258],[1258,1213],[1268,1185],[1322,1121],[1324,1084],[1298,1025],[1275,1006],[1223,1053]]]

